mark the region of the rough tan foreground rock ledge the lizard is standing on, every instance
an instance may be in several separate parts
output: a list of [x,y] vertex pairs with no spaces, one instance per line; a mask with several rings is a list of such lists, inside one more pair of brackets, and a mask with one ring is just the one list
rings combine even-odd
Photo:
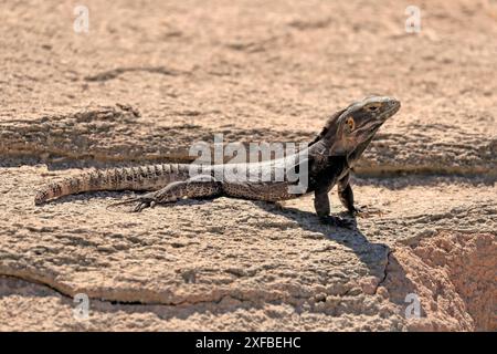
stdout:
[[[9,218],[0,220],[0,272],[67,296],[83,292],[98,299],[87,324],[65,317],[57,330],[144,329],[142,316],[152,317],[150,330],[495,329],[494,185],[433,177],[416,179],[419,185],[409,177],[357,180],[359,202],[383,215],[359,219],[357,230],[347,231],[320,226],[310,197],[288,201],[283,210],[219,198],[130,215],[106,210],[123,194],[102,192],[38,208],[32,187],[44,174],[41,166],[2,169],[0,206]],[[335,195],[332,204],[343,211]],[[391,281],[395,262],[402,266]],[[437,268],[443,269],[434,272]],[[13,280],[3,281],[0,302],[10,310],[0,316],[9,326],[13,313],[18,329],[33,321],[20,313],[29,299],[39,299],[47,313],[71,308],[68,299],[46,289],[27,293],[23,284],[12,291]],[[432,289],[440,282],[444,296]],[[388,291],[379,294],[379,287]],[[419,294],[423,309],[445,310],[411,324],[403,316],[408,293]],[[177,316],[182,320],[171,321]],[[38,321],[33,329],[47,325]]]

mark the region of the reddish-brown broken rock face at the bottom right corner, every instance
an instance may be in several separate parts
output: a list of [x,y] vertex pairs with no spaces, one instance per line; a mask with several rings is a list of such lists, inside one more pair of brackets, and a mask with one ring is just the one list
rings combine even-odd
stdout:
[[378,292],[405,301],[411,289],[422,304],[422,319],[411,331],[485,331],[497,329],[495,233],[442,231],[411,248],[399,247]]

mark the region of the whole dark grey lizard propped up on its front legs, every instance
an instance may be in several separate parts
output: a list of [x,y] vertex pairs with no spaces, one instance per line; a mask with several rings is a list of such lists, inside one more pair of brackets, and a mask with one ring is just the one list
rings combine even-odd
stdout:
[[273,174],[278,168],[294,168],[298,173],[305,173],[307,185],[298,192],[289,192],[289,187],[295,186],[296,181],[290,181],[287,175],[279,181],[262,180],[261,177],[258,180],[229,180],[218,178],[220,174],[223,176],[225,166],[229,165],[203,166],[202,173],[191,177],[191,168],[199,166],[161,164],[97,169],[68,177],[40,189],[34,201],[35,205],[42,205],[51,199],[84,191],[145,190],[148,192],[112,205],[136,204],[133,211],[139,212],[158,204],[175,202],[183,198],[226,196],[278,202],[314,192],[314,207],[319,220],[343,226],[343,219],[330,215],[328,194],[337,185],[339,199],[348,212],[360,215],[362,210],[355,206],[350,186],[351,168],[378,129],[399,111],[400,105],[393,97],[368,96],[332,114],[316,138],[294,156],[234,166],[247,171],[264,170],[265,167]]

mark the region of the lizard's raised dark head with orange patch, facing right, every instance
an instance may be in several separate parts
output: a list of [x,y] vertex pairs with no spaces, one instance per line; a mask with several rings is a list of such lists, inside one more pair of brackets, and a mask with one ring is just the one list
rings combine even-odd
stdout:
[[387,96],[369,96],[352,103],[335,116],[334,124],[327,124],[334,126],[326,133],[331,144],[329,154],[357,159],[380,126],[399,108],[400,102]]

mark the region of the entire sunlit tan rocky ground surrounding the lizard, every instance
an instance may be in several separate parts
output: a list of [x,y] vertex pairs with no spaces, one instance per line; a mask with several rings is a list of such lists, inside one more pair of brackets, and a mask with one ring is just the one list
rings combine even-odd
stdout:
[[[0,34],[1,331],[497,330],[496,1],[1,1]],[[369,94],[402,108],[355,168],[381,214],[351,229],[313,196],[34,206],[219,133],[309,142]]]

